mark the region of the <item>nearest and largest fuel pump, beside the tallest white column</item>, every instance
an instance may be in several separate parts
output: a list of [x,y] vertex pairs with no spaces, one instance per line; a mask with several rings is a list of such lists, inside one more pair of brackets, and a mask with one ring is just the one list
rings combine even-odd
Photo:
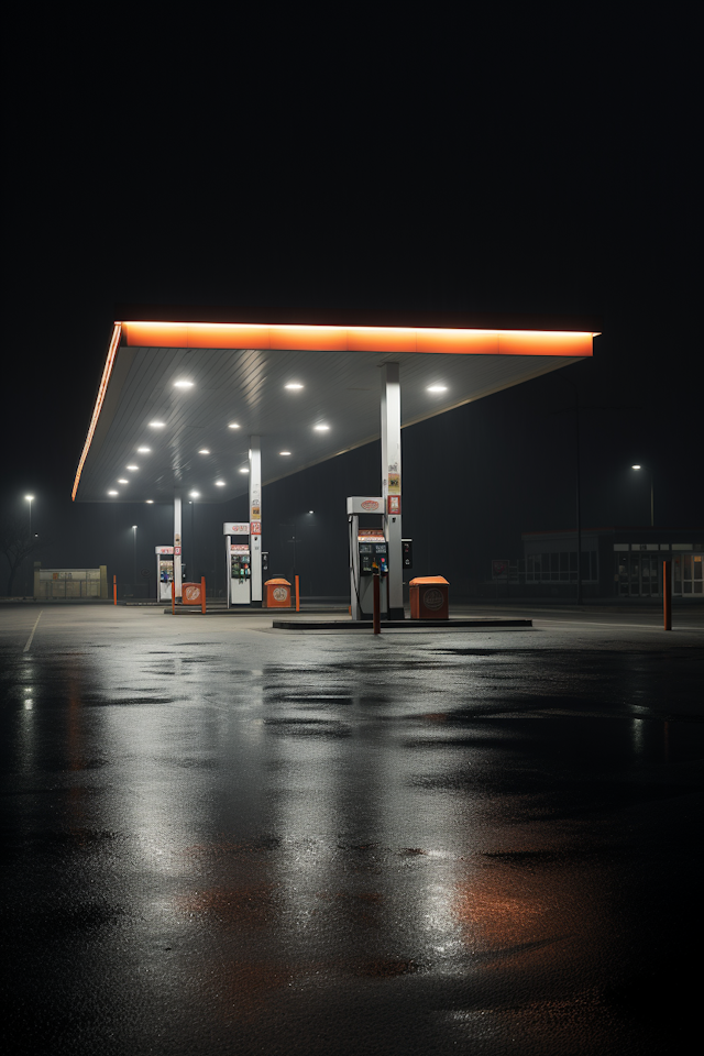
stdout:
[[374,574],[381,582],[381,612],[387,613],[386,575],[388,573],[388,542],[383,524],[360,528],[360,516],[383,514],[382,498],[348,498],[350,534],[350,601],[352,619],[371,619],[374,610]]

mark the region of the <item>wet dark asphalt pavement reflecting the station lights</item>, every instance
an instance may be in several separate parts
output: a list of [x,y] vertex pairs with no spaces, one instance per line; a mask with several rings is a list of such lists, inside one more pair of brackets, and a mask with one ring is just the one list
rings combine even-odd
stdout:
[[0,607],[6,1052],[688,1052],[704,612],[674,622]]

